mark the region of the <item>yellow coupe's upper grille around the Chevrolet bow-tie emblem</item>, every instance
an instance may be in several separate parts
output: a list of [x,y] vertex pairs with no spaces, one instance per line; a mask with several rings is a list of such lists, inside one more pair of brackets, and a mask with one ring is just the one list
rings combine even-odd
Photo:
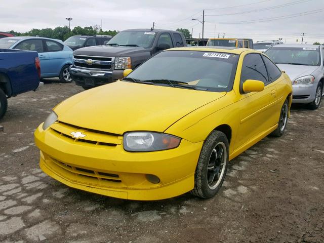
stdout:
[[[123,137],[118,134],[107,133],[102,131],[97,131],[93,129],[76,127],[70,124],[62,123],[60,121],[56,121],[54,124],[50,126],[52,131],[58,136],[64,136],[70,139],[71,142],[77,143],[86,143],[88,145],[92,144],[92,146],[116,146],[117,144],[122,143]],[[82,137],[74,137],[71,133],[81,133]],[[85,136],[83,136],[85,135]]]

